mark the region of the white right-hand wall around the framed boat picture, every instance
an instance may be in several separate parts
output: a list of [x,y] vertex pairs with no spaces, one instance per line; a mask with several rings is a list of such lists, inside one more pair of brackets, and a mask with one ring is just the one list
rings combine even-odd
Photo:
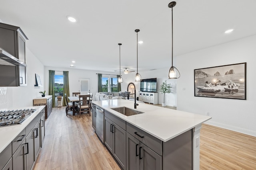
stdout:
[[[189,62],[188,62],[189,61]],[[247,63],[247,100],[194,97],[194,69]],[[256,136],[256,35],[177,57],[177,109],[206,115],[206,123]],[[186,88],[186,90],[182,90]]]

